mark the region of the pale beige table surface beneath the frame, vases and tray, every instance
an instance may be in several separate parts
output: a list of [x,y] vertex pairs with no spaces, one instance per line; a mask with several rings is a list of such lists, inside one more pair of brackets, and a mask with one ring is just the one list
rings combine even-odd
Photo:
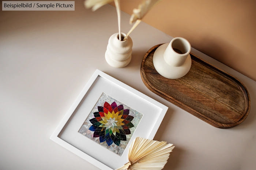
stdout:
[[[115,8],[106,5],[91,12],[82,3],[76,1],[75,11],[0,11],[1,170],[97,169],[49,139],[97,68],[169,107],[154,138],[176,146],[165,169],[255,169],[254,80],[192,49],[240,79],[251,96],[243,123],[215,128],[151,92],[140,78],[144,54],[171,36],[141,23],[131,34],[131,63],[112,68],[104,54],[108,38],[118,31]],[[129,17],[122,12],[125,33]]]

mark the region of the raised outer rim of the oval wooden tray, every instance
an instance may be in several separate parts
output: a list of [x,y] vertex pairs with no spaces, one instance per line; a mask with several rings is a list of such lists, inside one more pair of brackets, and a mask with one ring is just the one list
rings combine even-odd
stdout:
[[[238,120],[237,122],[234,122],[234,123],[229,123],[229,124],[219,123],[219,122],[217,122],[215,120],[212,120],[212,119],[208,118],[207,116],[201,114],[199,111],[194,110],[193,108],[187,106],[186,104],[182,103],[181,101],[174,99],[172,96],[170,96],[168,94],[165,94],[164,92],[162,92],[161,90],[159,90],[158,88],[153,86],[150,83],[150,81],[146,78],[146,74],[145,74],[145,71],[144,71],[144,63],[146,61],[146,58],[147,58],[148,54],[150,54],[151,51],[155,50],[157,47],[161,46],[162,44],[158,44],[158,45],[155,45],[155,46],[151,47],[146,52],[146,54],[144,55],[142,63],[141,63],[141,66],[140,66],[140,76],[142,78],[143,83],[146,85],[146,87],[150,91],[152,91],[155,94],[161,96],[162,98],[166,99],[167,101],[175,104],[176,106],[182,108],[183,110],[189,112],[190,114],[196,116],[197,118],[202,119],[204,122],[206,122],[208,124],[211,124],[214,127],[218,127],[218,128],[221,128],[221,129],[227,129],[227,128],[231,128],[231,127],[237,126],[238,124],[242,123],[246,119],[246,117],[248,116],[249,111],[251,109],[251,98],[250,98],[249,92],[248,92],[247,88],[245,87],[245,85],[238,78],[236,78],[235,76],[233,76],[233,75],[229,74],[228,72],[226,72],[226,71],[224,71],[224,70],[214,66],[213,64],[210,64],[210,63],[206,62],[205,60],[199,58],[197,55],[193,54],[192,52],[190,52],[190,54],[195,56],[196,59],[200,60],[201,62],[203,62],[204,64],[206,64],[206,65],[208,65],[210,67],[213,67],[215,70],[218,70],[219,72],[221,72],[222,75],[231,78],[241,88],[241,90],[242,90],[242,92],[244,94],[244,97],[245,97],[245,104],[246,104],[247,110],[243,113],[243,116],[241,117],[240,120]],[[143,77],[145,77],[145,79]]]

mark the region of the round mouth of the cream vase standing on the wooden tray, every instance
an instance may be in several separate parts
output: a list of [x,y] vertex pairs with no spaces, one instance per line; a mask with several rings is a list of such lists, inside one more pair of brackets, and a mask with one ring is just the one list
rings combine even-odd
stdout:
[[172,49],[178,54],[186,54],[190,51],[190,44],[183,39],[175,39],[172,42]]

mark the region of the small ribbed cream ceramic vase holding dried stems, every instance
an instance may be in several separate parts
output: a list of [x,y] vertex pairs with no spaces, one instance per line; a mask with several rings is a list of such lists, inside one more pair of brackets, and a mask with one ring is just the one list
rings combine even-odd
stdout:
[[[121,33],[121,35],[123,39],[125,33]],[[110,36],[105,59],[110,66],[121,68],[127,66],[132,59],[132,39],[128,36],[126,40],[120,41],[118,37],[118,33]]]

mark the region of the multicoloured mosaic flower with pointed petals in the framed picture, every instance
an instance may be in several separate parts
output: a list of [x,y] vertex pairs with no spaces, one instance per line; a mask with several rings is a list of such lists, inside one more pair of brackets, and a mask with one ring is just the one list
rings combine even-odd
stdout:
[[123,104],[117,106],[116,102],[111,105],[104,103],[104,107],[98,106],[98,112],[94,112],[93,119],[90,119],[94,131],[93,137],[98,138],[102,143],[106,141],[108,146],[113,142],[117,146],[121,141],[126,141],[126,135],[131,134],[129,130],[134,125],[131,123],[133,116],[129,115],[129,109],[124,110]]

